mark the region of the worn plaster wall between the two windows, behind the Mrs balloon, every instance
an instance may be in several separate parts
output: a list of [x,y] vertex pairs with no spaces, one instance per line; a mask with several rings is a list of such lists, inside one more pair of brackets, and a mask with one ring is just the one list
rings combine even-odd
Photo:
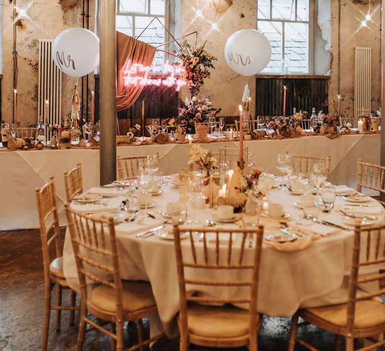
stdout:
[[[208,21],[214,21],[215,9],[212,2],[199,0],[198,4]],[[197,3],[189,0],[181,1],[182,34],[198,31],[198,44],[207,40],[206,49],[218,57],[212,78],[207,79],[201,89],[202,97],[210,97],[215,107],[222,107],[222,116],[236,116],[239,114],[238,105],[241,104],[242,94],[247,77],[235,73],[227,65],[224,49],[227,39],[241,29],[256,28],[257,2],[255,0],[234,1],[233,5],[224,13],[218,14],[216,23],[218,31],[213,30],[205,18],[196,16]],[[189,42],[194,44],[194,40]],[[252,96],[255,93],[255,79],[249,79]],[[180,95],[190,96],[188,90],[182,90]],[[251,104],[254,115],[255,105]]]

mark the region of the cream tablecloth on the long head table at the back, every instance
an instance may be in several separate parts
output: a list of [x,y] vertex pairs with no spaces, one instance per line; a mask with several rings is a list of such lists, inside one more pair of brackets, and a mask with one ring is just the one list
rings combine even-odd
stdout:
[[[218,152],[230,142],[204,143],[203,147]],[[234,142],[237,146],[239,143]],[[379,164],[380,135],[344,135],[336,139],[325,136],[309,136],[284,140],[246,141],[253,158],[264,166],[266,172],[278,174],[275,168],[277,154],[288,151],[292,154],[331,155],[330,181],[355,188],[356,162]],[[122,156],[146,155],[159,152],[160,170],[165,174],[177,172],[186,166],[188,144],[164,144],[145,146],[119,146]],[[38,228],[35,189],[56,180],[61,224],[64,216],[65,187],[63,172],[81,162],[84,189],[99,186],[99,150],[42,150],[0,152],[0,192],[3,206],[0,213],[0,230]]]

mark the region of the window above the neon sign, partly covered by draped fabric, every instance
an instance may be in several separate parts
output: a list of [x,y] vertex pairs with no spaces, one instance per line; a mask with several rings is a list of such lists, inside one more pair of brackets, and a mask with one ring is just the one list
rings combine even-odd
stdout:
[[[117,0],[116,30],[137,38],[154,17],[168,26],[167,0]],[[158,46],[165,43],[166,32],[161,24],[154,20],[143,32],[139,40]],[[167,47],[160,47],[167,50]],[[164,64],[164,52],[157,50],[154,58],[155,65]]]

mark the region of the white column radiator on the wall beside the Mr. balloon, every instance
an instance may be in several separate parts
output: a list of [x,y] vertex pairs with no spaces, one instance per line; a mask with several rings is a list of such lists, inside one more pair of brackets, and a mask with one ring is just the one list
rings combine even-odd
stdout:
[[[52,59],[52,42],[53,39],[39,39],[38,118],[43,116],[43,120],[47,120],[50,125],[60,125],[62,115],[62,71]],[[46,116],[47,100],[48,116]],[[46,134],[47,138],[51,138],[51,133],[46,131]]]

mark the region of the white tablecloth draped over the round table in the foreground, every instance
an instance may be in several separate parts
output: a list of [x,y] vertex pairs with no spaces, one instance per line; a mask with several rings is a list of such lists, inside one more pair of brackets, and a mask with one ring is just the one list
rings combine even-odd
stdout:
[[[176,190],[164,188],[167,190],[164,194],[153,197],[157,205],[151,209],[152,213],[164,210],[167,202],[178,200],[179,194]],[[302,213],[294,206],[298,199],[299,197],[280,190],[273,190],[269,195],[270,201],[284,204],[284,210],[290,213],[292,219]],[[337,197],[336,206],[340,204],[348,203]],[[365,204],[381,208],[375,200]],[[197,211],[196,217],[204,223],[205,219],[212,218],[213,213],[214,210],[211,209],[200,210]],[[383,221],[383,216],[379,218]],[[330,214],[321,213],[319,219],[343,224],[343,217],[336,209]],[[277,225],[277,221],[262,218],[262,223],[267,228],[272,222]],[[162,326],[168,336],[174,337],[177,333],[175,315],[179,310],[179,294],[173,241],[165,241],[156,236],[141,239],[134,233],[128,234],[117,229],[117,242],[122,279],[145,280],[151,283]],[[300,306],[315,307],[345,302],[346,276],[350,269],[352,244],[353,233],[339,231],[315,240],[310,247],[296,252],[276,251],[264,245],[258,311],[271,316],[291,316]],[[197,245],[202,246],[202,243]],[[182,241],[182,246],[185,255],[189,250],[188,240]],[[226,249],[227,246],[224,245],[224,250]],[[75,259],[68,231],[63,255],[66,279],[72,288],[78,289]],[[227,272],[223,274],[223,280],[231,280]],[[199,289],[209,295],[214,291],[213,287],[205,286],[190,286],[189,289]],[[237,288],[234,289],[232,293],[236,295]],[[214,293],[223,296],[224,289],[217,289]]]

